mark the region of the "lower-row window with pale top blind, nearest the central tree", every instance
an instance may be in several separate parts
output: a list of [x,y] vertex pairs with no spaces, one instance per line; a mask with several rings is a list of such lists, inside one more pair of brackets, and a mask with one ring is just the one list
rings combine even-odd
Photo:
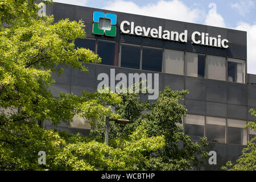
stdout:
[[200,140],[204,137],[204,119],[203,115],[187,114],[184,117],[184,133],[190,135],[192,140]]

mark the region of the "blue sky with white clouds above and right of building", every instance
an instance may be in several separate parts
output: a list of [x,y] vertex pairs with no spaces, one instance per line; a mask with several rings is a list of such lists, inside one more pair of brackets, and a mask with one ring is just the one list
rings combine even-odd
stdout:
[[256,74],[256,0],[53,0],[247,31],[247,71]]

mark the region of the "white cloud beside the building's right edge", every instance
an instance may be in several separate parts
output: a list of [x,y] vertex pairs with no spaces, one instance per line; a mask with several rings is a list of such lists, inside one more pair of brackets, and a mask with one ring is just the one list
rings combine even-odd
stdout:
[[240,22],[235,29],[247,31],[247,72],[256,74],[256,24]]

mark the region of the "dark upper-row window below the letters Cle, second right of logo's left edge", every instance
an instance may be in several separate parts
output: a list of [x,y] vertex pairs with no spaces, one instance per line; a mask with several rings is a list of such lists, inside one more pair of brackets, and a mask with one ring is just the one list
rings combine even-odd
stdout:
[[121,67],[139,69],[141,46],[121,44]]

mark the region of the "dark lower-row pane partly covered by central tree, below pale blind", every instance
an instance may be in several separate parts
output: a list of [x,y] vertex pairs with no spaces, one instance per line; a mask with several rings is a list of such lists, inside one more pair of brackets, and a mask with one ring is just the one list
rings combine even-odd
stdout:
[[201,137],[204,137],[204,126],[185,124],[184,133],[189,135],[192,140],[200,140]]

